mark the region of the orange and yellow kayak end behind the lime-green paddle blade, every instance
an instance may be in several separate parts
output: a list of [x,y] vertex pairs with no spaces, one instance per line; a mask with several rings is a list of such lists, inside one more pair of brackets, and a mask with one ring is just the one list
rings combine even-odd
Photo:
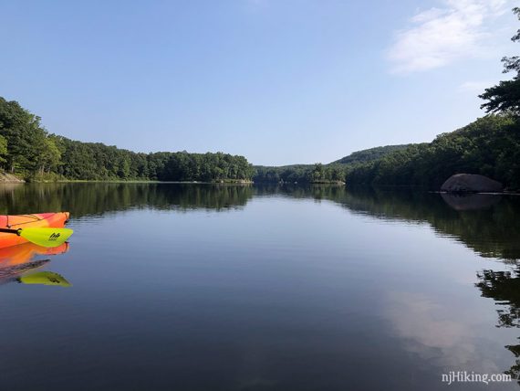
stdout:
[[[36,215],[0,216],[0,228],[61,228],[67,223],[69,213],[38,213]],[[25,238],[15,234],[0,232],[0,248],[27,243]]]

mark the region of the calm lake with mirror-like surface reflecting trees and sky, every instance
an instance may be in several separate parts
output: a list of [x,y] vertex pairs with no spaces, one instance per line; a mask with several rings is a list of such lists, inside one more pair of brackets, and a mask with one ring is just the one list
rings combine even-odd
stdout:
[[[179,184],[0,194],[2,214],[69,211],[75,230],[59,251],[21,245],[0,259],[3,390],[518,387],[520,196]],[[20,283],[43,270],[71,286]],[[514,380],[448,386],[452,371]]]

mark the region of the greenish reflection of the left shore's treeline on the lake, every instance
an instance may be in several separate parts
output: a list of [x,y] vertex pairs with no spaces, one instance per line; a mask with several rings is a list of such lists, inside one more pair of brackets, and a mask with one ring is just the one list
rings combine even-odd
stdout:
[[73,217],[132,208],[224,210],[244,206],[248,185],[188,184],[35,184],[0,187],[0,213],[70,211]]

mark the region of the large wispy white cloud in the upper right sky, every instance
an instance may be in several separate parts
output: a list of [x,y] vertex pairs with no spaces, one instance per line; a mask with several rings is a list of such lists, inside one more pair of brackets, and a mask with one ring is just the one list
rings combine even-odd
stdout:
[[508,10],[508,0],[443,0],[411,17],[387,51],[391,71],[410,73],[444,67],[461,58],[485,56],[489,26]]

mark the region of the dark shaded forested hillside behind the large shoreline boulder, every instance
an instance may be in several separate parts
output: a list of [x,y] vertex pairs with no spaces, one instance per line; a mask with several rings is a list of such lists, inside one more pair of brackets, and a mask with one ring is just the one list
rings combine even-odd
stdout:
[[361,164],[348,171],[348,185],[422,185],[439,189],[452,174],[483,174],[520,188],[520,124],[514,115],[491,114],[432,143]]

